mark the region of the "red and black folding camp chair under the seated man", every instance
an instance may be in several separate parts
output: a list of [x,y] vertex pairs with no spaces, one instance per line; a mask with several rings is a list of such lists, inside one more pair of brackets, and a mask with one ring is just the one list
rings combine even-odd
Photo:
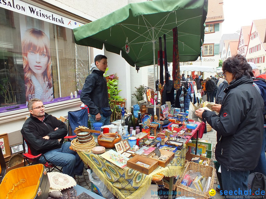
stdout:
[[[22,137],[22,139],[23,139],[23,142],[22,142],[22,145],[23,145],[23,154],[22,154],[22,156],[23,156],[23,158],[27,161],[27,163],[28,163],[28,165],[35,165],[35,164],[40,164],[39,162],[38,162],[38,159],[41,157],[41,156],[43,156],[44,157],[44,159],[45,159],[45,161],[46,161],[46,163],[44,163],[43,165],[45,166],[45,168],[48,168],[48,172],[50,172],[50,170],[51,170],[51,172],[54,170],[54,169],[57,169],[60,173],[62,172],[62,169],[63,168],[58,168],[56,165],[54,165],[54,164],[52,164],[51,162],[49,162],[46,158],[45,158],[45,156],[43,155],[43,154],[39,154],[39,155],[32,155],[31,154],[31,149],[30,149],[30,147],[29,147],[29,145],[28,145],[28,143],[27,143],[27,141],[24,139],[24,137]],[[25,142],[26,142],[26,144],[27,144],[27,146],[28,146],[28,153],[26,153],[26,150],[25,150]],[[26,166],[26,162],[24,161],[24,166]]]

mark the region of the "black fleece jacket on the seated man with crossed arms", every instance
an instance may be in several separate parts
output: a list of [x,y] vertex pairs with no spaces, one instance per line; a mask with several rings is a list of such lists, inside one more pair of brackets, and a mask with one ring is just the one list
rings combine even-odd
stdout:
[[[58,129],[55,131],[57,127]],[[67,133],[66,125],[47,113],[44,115],[43,122],[31,115],[21,129],[21,134],[26,140],[32,155],[44,154],[60,148]],[[47,135],[50,137],[49,140],[43,138]],[[58,142],[58,139],[62,140]]]

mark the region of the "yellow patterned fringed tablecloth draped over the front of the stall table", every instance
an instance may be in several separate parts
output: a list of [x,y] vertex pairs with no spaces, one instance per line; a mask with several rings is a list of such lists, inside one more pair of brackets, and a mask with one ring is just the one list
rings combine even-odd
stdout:
[[171,177],[180,175],[185,166],[186,148],[177,150],[174,159],[165,168],[158,166],[150,175],[134,169],[115,166],[98,154],[92,152],[77,152],[83,162],[99,176],[99,179],[119,199],[139,199],[151,185],[153,176],[163,174]]

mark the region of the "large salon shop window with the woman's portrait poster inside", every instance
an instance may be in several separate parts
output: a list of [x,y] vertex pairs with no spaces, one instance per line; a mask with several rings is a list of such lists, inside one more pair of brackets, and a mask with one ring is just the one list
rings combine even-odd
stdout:
[[[26,105],[34,97],[53,103],[82,89],[88,47],[73,42],[72,29],[4,8],[0,13],[0,104]],[[36,68],[45,70],[38,75]]]

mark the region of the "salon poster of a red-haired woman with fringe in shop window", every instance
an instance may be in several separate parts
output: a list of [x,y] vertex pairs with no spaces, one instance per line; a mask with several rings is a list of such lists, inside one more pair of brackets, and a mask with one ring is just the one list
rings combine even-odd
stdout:
[[[47,31],[47,32],[45,32]],[[33,98],[53,101],[49,24],[20,14],[26,103]]]

